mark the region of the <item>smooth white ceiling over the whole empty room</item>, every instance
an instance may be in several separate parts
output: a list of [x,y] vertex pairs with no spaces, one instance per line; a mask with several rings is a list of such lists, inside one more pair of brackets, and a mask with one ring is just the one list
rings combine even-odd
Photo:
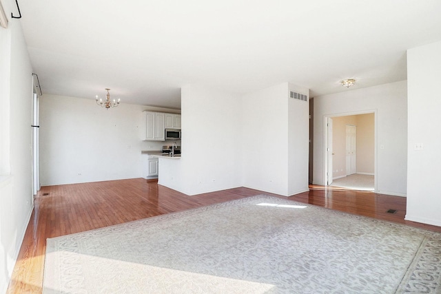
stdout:
[[[93,99],[109,87],[121,103],[171,108],[181,108],[181,86],[188,83],[247,93],[291,82],[318,96],[402,81],[406,50],[441,40],[440,0],[19,0],[19,6],[43,95]],[[344,78],[357,84],[342,87]]]

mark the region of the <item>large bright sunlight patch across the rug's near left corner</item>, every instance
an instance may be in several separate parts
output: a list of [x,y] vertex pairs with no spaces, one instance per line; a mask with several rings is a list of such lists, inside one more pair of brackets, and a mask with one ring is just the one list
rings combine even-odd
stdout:
[[[57,253],[49,253],[57,255]],[[169,269],[154,264],[143,264],[61,251],[64,268],[70,272],[70,282],[61,283],[61,275],[45,273],[44,291],[71,293],[71,291],[96,291],[101,293],[268,293],[274,285],[231,277],[195,273],[183,269]],[[81,261],[81,262],[80,262]],[[45,271],[57,271],[58,266]],[[53,278],[54,277],[54,278]],[[73,277],[73,278],[72,278]]]

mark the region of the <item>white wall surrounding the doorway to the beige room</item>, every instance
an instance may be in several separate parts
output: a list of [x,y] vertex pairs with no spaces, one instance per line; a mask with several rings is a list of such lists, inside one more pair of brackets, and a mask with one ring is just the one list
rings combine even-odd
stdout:
[[407,81],[314,98],[313,182],[325,185],[324,118],[367,112],[376,112],[376,192],[406,196]]

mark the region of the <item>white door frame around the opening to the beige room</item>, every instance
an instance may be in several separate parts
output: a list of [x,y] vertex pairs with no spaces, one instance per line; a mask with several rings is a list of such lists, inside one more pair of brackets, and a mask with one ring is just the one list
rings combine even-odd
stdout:
[[377,176],[377,135],[378,135],[378,113],[377,113],[377,109],[367,109],[367,110],[362,110],[359,112],[340,112],[338,114],[325,114],[323,116],[323,148],[322,148],[322,152],[323,152],[323,179],[324,181],[324,185],[325,187],[327,187],[327,174],[328,174],[328,151],[327,151],[327,147],[328,147],[328,134],[327,134],[327,121],[328,118],[334,118],[334,117],[338,117],[338,116],[356,116],[358,114],[372,114],[374,116],[374,159],[373,159],[373,189],[374,192],[377,192],[377,183],[378,183],[378,176]]

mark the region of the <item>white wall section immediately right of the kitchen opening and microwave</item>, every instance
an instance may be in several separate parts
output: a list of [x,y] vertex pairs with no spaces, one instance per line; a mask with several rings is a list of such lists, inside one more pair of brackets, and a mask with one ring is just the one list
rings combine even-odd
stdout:
[[240,106],[238,94],[202,85],[183,87],[183,193],[195,195],[242,185]]

